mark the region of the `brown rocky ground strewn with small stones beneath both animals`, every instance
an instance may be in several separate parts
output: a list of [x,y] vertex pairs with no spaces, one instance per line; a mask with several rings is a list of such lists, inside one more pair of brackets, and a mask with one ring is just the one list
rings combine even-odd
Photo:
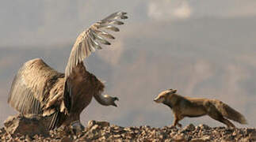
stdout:
[[165,126],[121,127],[107,121],[89,121],[82,133],[69,129],[57,129],[48,136],[22,136],[0,129],[0,141],[256,141],[256,129],[211,128],[208,125],[192,124],[182,129]]

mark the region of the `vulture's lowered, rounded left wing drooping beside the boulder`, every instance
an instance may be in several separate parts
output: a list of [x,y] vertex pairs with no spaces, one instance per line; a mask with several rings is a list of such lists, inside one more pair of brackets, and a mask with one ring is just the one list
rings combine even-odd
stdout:
[[21,114],[43,114],[49,91],[63,76],[40,58],[25,62],[14,77],[8,103]]

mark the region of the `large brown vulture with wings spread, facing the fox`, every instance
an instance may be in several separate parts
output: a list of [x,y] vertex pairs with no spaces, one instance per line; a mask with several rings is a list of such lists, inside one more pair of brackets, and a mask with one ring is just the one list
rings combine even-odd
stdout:
[[58,73],[40,58],[32,59],[19,69],[14,77],[8,103],[27,118],[48,118],[49,129],[60,125],[80,123],[82,110],[94,98],[104,106],[115,106],[117,97],[101,95],[104,84],[86,71],[83,59],[101,44],[110,45],[112,35],[103,31],[118,32],[113,24],[124,24],[126,13],[117,12],[98,21],[82,32],[71,50],[65,73]]

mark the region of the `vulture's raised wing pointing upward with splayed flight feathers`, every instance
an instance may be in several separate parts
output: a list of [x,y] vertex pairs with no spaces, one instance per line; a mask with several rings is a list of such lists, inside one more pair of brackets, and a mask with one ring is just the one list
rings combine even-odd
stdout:
[[95,49],[101,50],[101,44],[110,45],[108,39],[115,39],[114,36],[110,35],[105,30],[113,32],[119,32],[119,28],[115,27],[114,24],[124,24],[118,19],[127,19],[126,13],[117,12],[105,17],[105,19],[98,21],[90,26],[86,31],[82,32],[75,41],[75,44],[71,50],[71,55],[67,62],[65,70],[65,77],[69,77],[72,73],[72,69],[75,65],[86,57],[88,57]]

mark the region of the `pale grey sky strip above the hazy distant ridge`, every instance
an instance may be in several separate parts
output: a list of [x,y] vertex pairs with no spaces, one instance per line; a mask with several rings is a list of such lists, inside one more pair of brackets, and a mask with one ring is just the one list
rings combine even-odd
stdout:
[[129,24],[256,15],[253,0],[9,0],[0,3],[0,48],[73,43],[79,32],[117,10],[129,13]]

